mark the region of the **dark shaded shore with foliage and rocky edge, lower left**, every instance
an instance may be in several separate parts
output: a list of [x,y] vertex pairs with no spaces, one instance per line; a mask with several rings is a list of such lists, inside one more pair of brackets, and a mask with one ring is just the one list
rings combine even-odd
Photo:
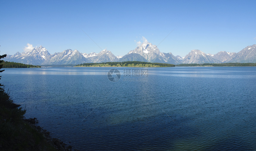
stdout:
[[[0,59],[4,57],[6,55],[1,55]],[[2,62],[0,60],[0,69],[3,67]],[[3,71],[0,70],[0,73]],[[35,126],[38,122],[36,118],[25,119],[25,113],[26,110],[13,103],[8,91],[0,84],[0,150],[72,150],[71,146],[51,138],[49,132]]]

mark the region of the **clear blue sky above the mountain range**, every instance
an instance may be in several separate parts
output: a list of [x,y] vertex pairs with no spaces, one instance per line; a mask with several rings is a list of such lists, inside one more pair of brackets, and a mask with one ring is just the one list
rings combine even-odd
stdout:
[[118,56],[143,37],[175,56],[192,49],[239,52],[256,44],[255,6],[256,0],[1,1],[0,54],[31,44],[51,54],[107,49]]

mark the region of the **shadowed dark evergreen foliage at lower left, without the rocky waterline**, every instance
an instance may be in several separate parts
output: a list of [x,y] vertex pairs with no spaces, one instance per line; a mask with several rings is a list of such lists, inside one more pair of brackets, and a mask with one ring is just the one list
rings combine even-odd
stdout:
[[[0,59],[4,57],[6,55],[1,55]],[[0,63],[1,69],[3,60]],[[24,121],[25,113],[0,84],[0,150],[51,150],[43,143],[43,135]]]

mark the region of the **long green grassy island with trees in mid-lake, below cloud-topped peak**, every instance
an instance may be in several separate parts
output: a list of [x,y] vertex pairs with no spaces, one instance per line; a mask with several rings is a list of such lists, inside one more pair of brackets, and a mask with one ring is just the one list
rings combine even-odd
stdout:
[[125,62],[102,62],[102,63],[81,63],[75,67],[175,67],[168,63],[152,63],[141,61],[125,61]]

